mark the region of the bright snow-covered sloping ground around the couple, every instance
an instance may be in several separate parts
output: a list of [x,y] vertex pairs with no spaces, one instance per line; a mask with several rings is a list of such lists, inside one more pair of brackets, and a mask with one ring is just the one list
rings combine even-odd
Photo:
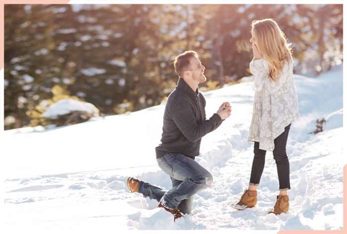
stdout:
[[[289,213],[267,214],[278,194],[272,153],[258,190],[258,204],[236,211],[230,204],[248,185],[253,144],[246,141],[254,91],[251,82],[206,92],[207,116],[229,101],[232,115],[205,136],[197,161],[214,183],[195,195],[193,212],[173,223],[157,201],[130,193],[128,176],[169,189],[157,166],[164,105],[67,127],[5,131],[6,233],[114,233],[118,230],[341,230],[343,228],[342,66],[318,78],[295,75],[300,120],[289,132]],[[312,135],[316,119],[324,131]],[[19,225],[20,224],[20,225]]]

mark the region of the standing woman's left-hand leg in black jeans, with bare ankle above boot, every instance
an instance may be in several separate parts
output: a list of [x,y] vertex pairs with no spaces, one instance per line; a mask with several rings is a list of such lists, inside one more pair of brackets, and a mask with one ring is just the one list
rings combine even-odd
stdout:
[[257,190],[265,166],[266,151],[259,149],[259,142],[254,142],[254,158],[248,190]]

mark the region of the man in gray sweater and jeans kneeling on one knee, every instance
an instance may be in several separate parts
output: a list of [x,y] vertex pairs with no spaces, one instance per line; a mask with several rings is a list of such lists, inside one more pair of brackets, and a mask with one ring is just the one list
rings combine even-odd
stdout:
[[179,75],[177,86],[169,95],[164,112],[161,144],[156,147],[159,167],[171,177],[172,189],[165,191],[133,177],[127,179],[131,192],[159,201],[158,207],[171,212],[174,220],[191,213],[193,195],[211,186],[213,178],[195,162],[201,138],[230,117],[231,106],[223,103],[216,114],[206,119],[204,96],[198,84],[205,82],[205,67],[194,51],[186,51],[174,60]]

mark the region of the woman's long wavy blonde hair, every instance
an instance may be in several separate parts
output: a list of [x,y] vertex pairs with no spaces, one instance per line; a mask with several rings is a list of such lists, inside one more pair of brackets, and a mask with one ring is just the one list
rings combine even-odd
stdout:
[[269,63],[269,78],[276,81],[285,65],[292,62],[292,48],[273,19],[253,20],[252,34],[260,55]]

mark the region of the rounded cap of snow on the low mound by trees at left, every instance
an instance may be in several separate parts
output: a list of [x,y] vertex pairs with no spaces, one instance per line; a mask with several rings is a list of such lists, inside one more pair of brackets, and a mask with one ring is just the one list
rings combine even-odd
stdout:
[[42,114],[46,118],[57,118],[72,111],[82,111],[90,114],[99,115],[99,110],[91,103],[81,102],[74,99],[62,99],[52,104]]

